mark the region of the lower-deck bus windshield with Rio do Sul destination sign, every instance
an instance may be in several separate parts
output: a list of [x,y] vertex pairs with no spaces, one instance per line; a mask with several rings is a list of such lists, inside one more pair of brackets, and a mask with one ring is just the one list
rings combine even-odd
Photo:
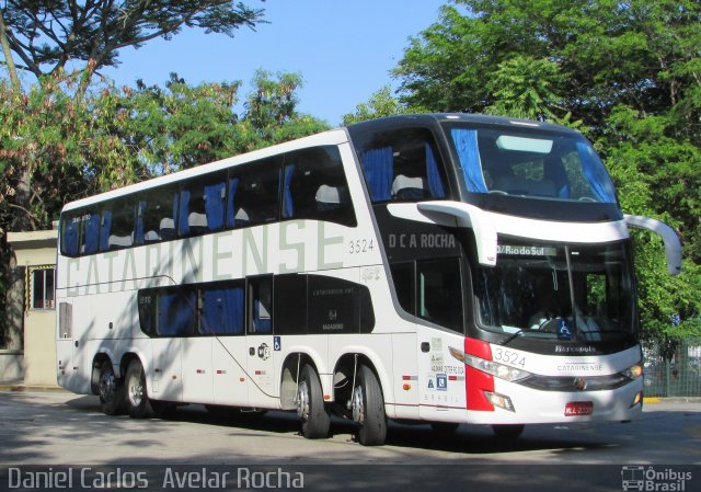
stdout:
[[499,244],[475,278],[483,328],[584,342],[632,334],[633,279],[625,243]]

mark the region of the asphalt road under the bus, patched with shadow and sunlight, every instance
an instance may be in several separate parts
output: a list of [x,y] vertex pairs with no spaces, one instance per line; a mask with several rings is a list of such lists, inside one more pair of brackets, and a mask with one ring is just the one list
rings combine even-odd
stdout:
[[[630,424],[530,426],[510,442],[487,427],[436,434],[427,425],[390,424],[384,446],[364,447],[342,420],[327,439],[309,440],[297,416],[284,412],[232,419],[188,405],[169,420],[138,421],[103,415],[96,397],[0,392],[0,490],[47,489],[25,481],[36,477],[58,489],[61,472],[85,467],[88,479],[94,470],[113,478],[117,468],[133,470],[122,480],[135,479],[134,490],[143,484],[139,477],[149,478],[149,490],[294,490],[301,473],[304,490],[635,490],[648,487],[636,481],[646,474],[656,490],[693,491],[701,490],[701,404],[648,404]],[[72,478],[73,490],[85,489]]]

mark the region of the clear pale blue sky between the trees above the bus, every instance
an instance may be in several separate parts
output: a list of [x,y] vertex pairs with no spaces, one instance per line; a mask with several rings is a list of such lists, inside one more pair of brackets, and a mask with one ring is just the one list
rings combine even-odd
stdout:
[[119,85],[142,79],[162,85],[171,72],[189,84],[240,80],[241,99],[256,69],[302,76],[298,111],[336,126],[344,114],[384,85],[402,59],[409,37],[438,20],[447,0],[244,0],[263,8],[265,20],[233,38],[183,31],[119,52],[120,65],[101,70]]

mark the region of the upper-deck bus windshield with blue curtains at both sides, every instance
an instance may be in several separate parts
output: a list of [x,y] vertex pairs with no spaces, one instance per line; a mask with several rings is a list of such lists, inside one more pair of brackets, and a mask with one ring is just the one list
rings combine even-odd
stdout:
[[471,193],[616,203],[606,168],[576,134],[455,123],[446,129]]

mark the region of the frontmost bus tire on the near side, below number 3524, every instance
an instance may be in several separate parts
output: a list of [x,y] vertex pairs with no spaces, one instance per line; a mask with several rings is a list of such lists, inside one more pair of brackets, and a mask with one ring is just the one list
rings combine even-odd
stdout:
[[358,442],[364,446],[381,446],[387,439],[384,398],[377,376],[360,366],[352,396],[353,420],[358,423]]

